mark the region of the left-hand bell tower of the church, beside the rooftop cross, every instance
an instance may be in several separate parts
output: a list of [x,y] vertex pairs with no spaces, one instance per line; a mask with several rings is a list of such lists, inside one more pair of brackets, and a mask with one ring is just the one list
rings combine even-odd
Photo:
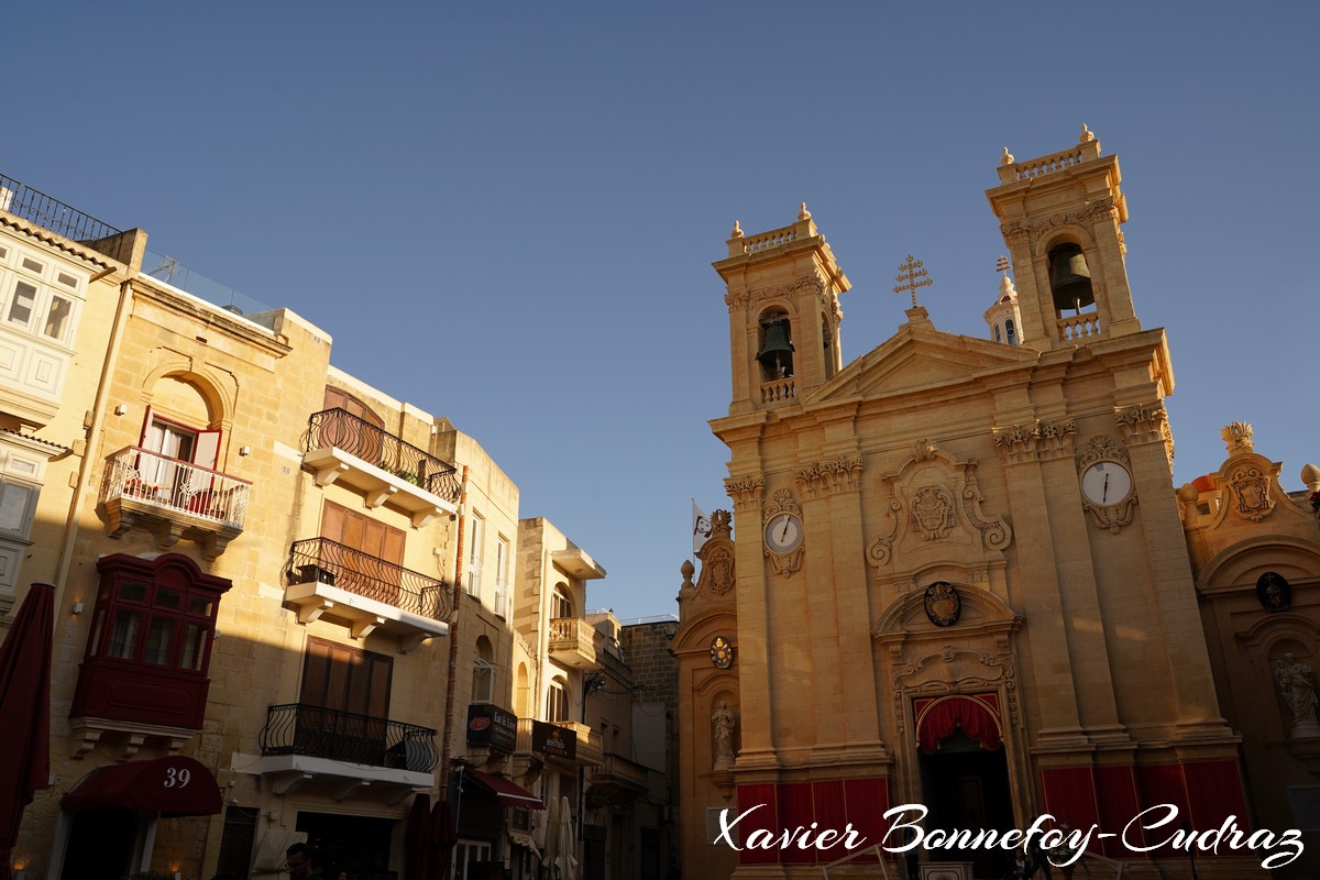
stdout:
[[797,222],[759,235],[734,223],[713,264],[729,306],[729,414],[792,406],[842,369],[838,294],[851,285],[803,203]]

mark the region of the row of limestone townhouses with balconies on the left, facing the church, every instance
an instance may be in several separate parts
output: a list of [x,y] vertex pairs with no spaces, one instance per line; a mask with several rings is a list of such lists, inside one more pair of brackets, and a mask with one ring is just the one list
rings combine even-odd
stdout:
[[0,635],[57,586],[53,785],[13,867],[246,879],[306,840],[325,876],[393,876],[449,800],[458,876],[525,879],[561,796],[582,860],[620,751],[583,711],[605,570],[325,330],[145,244],[0,178]]

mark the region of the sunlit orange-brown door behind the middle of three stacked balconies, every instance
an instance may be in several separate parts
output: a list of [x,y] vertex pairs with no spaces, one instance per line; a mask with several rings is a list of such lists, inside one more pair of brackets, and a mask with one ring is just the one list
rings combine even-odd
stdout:
[[[321,509],[321,537],[348,549],[342,558],[327,558],[323,563],[335,570],[335,586],[368,599],[399,607],[399,584],[403,579],[403,529],[375,520],[362,511],[354,511],[326,501]],[[327,553],[334,553],[330,549]]]

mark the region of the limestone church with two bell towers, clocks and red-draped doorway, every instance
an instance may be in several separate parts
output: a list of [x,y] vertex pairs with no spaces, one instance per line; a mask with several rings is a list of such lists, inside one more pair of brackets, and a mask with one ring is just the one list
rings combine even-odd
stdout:
[[[1229,817],[1320,829],[1312,507],[1241,424],[1218,474],[1173,486],[1173,373],[1129,290],[1117,157],[1084,127],[1041,158],[1005,150],[998,178],[1014,280],[983,339],[940,331],[913,297],[845,365],[850,285],[805,206],[784,228],[735,226],[714,264],[733,400],[711,427],[733,512],[678,595],[685,877],[907,869],[843,846],[739,852],[713,843],[723,809],[756,807],[743,842],[816,823],[871,844],[903,803],[925,805],[925,829],[1049,813],[1115,834],[1177,809],[1093,838],[1078,877],[1267,876],[1269,852],[1162,843]],[[1304,839],[1275,876],[1316,876],[1320,840]],[[1007,865],[920,860],[945,880]]]

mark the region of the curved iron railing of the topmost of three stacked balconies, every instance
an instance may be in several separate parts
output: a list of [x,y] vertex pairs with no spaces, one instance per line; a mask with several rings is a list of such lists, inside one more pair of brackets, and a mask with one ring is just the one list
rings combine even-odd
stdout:
[[308,451],[329,447],[356,455],[450,504],[458,503],[458,474],[453,464],[345,409],[325,409],[312,416]]

